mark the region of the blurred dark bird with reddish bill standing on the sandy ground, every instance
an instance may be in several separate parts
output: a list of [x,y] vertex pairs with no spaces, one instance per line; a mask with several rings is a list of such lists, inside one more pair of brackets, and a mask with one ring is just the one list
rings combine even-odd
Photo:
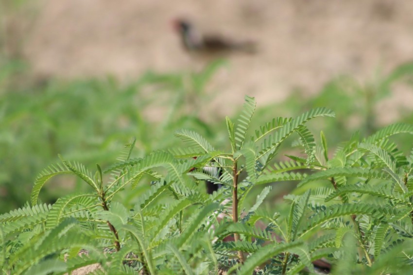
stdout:
[[227,54],[230,52],[255,53],[253,41],[235,42],[221,35],[202,35],[185,19],[173,20],[173,27],[181,37],[182,44],[189,52],[204,54]]

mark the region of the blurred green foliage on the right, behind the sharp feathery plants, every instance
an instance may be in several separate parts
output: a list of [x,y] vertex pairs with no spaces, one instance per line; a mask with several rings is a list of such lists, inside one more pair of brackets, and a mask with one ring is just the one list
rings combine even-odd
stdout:
[[[274,108],[285,116],[293,116],[294,113],[310,108],[328,106],[334,110],[337,119],[325,120],[325,123],[319,123],[319,120],[310,121],[309,127],[314,131],[323,130],[331,145],[336,146],[350,138],[355,131],[360,131],[363,136],[371,135],[390,123],[389,117],[393,117],[391,121],[413,123],[411,108],[393,101],[412,91],[412,76],[412,62],[400,64],[388,73],[377,69],[368,79],[361,80],[356,75],[339,75],[327,81],[316,94],[305,89],[293,90],[286,100],[261,106],[256,114],[258,121],[255,123],[258,124],[254,126],[259,126],[264,119],[271,120]],[[403,93],[397,93],[400,91]],[[297,100],[298,98],[305,100]],[[393,104],[388,104],[389,110],[383,112],[382,103],[385,102]],[[396,138],[400,145],[410,144],[404,136]]]

